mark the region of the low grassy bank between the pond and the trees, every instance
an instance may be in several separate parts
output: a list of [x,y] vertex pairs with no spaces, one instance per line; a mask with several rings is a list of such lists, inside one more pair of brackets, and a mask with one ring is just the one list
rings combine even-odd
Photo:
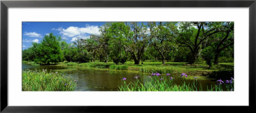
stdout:
[[[150,60],[149,60],[150,61]],[[220,70],[234,70],[234,63],[220,63],[219,65],[213,65],[211,68],[205,62],[196,62],[194,65],[189,65],[187,62],[149,62],[145,61],[143,64],[134,65],[134,62],[125,62],[125,64],[116,65],[113,62],[88,62],[88,63],[76,63],[76,62],[60,62],[58,66],[75,66],[75,67],[90,67],[96,69],[111,69],[111,70],[134,70],[144,73],[159,72],[160,74],[172,73],[180,74],[186,72],[191,76],[202,76],[210,74],[214,71]],[[27,62],[34,64],[33,62]]]

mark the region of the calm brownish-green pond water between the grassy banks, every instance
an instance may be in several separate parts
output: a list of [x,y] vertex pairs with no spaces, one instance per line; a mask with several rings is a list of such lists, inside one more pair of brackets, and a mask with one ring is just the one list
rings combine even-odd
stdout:
[[[95,68],[86,68],[86,67],[67,67],[67,66],[56,66],[56,65],[30,65],[27,63],[22,63],[22,70],[42,70],[47,69],[49,72],[61,72],[65,74],[65,76],[70,76],[73,79],[77,80],[77,88],[75,91],[118,91],[118,86],[124,85],[123,77],[127,78],[127,83],[135,81],[135,76],[140,76],[143,83],[148,81],[150,78],[150,74],[141,73],[137,71],[131,70],[110,70],[110,69],[95,69]],[[211,88],[211,85],[214,86],[216,84],[216,79],[220,77],[222,74],[225,74],[225,77],[230,79],[230,77],[234,77],[233,71],[223,71],[223,72],[215,72],[207,77],[198,76],[197,83],[198,89],[203,91]],[[166,77],[166,75],[161,75],[163,79],[169,79],[170,77]],[[184,77],[180,77],[180,74],[171,74],[174,78],[173,83],[182,84],[184,82]],[[189,76],[186,78],[186,83],[193,84],[195,81],[195,76]],[[214,77],[216,77],[214,79]]]

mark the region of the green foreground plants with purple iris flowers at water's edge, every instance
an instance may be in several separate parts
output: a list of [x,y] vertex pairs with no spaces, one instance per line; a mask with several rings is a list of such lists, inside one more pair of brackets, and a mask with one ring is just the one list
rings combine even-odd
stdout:
[[[198,84],[198,77],[194,77],[195,80],[192,84],[184,81],[184,83],[178,85],[173,83],[173,77],[170,77],[170,79],[164,79],[164,76],[156,76],[157,73],[158,72],[152,73],[151,76],[148,76],[150,79],[145,82],[143,82],[142,79],[138,79],[138,77],[136,77],[136,81],[131,83],[127,84],[124,82],[124,86],[118,86],[119,91],[202,91],[202,85]],[[183,76],[188,77],[188,75],[185,73],[182,73],[180,77]],[[230,81],[232,81],[232,83],[230,83]],[[222,83],[222,80],[218,80],[218,82]],[[227,91],[234,91],[233,83],[234,79],[230,79],[225,86],[221,86],[220,84],[211,86],[211,88],[208,88],[207,86],[207,91],[223,91],[223,88],[225,88]]]

